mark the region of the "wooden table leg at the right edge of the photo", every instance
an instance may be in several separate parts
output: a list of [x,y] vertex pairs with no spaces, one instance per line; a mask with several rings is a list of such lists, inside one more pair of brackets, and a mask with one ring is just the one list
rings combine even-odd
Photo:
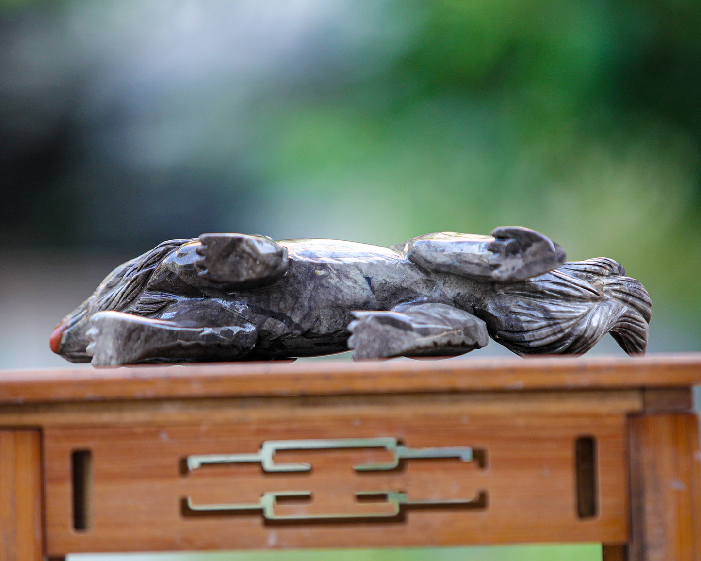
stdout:
[[632,561],[701,559],[701,453],[695,414],[630,419]]

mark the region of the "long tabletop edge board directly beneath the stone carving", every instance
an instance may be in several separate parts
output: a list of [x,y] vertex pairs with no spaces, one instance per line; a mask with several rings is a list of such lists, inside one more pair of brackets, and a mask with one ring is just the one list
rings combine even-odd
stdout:
[[701,384],[701,353],[638,358],[229,363],[0,373],[0,403]]

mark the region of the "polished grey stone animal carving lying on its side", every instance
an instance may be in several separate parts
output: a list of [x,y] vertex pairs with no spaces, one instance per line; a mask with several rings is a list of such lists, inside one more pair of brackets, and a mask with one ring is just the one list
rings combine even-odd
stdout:
[[543,234],[442,232],[383,248],[203,234],[119,266],[50,337],[93,365],[456,356],[489,337],[519,354],[644,353],[651,301],[608,258],[566,262]]

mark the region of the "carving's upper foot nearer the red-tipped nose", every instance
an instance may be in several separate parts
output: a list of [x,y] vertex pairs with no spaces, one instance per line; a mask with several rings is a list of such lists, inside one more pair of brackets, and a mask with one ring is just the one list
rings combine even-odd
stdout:
[[287,248],[266,236],[203,234],[200,243],[200,277],[238,290],[271,284],[289,266]]

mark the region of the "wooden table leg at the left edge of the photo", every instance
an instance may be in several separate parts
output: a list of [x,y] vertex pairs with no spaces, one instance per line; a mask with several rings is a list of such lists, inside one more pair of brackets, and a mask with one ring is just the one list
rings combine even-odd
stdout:
[[43,560],[39,431],[0,429],[0,559]]

